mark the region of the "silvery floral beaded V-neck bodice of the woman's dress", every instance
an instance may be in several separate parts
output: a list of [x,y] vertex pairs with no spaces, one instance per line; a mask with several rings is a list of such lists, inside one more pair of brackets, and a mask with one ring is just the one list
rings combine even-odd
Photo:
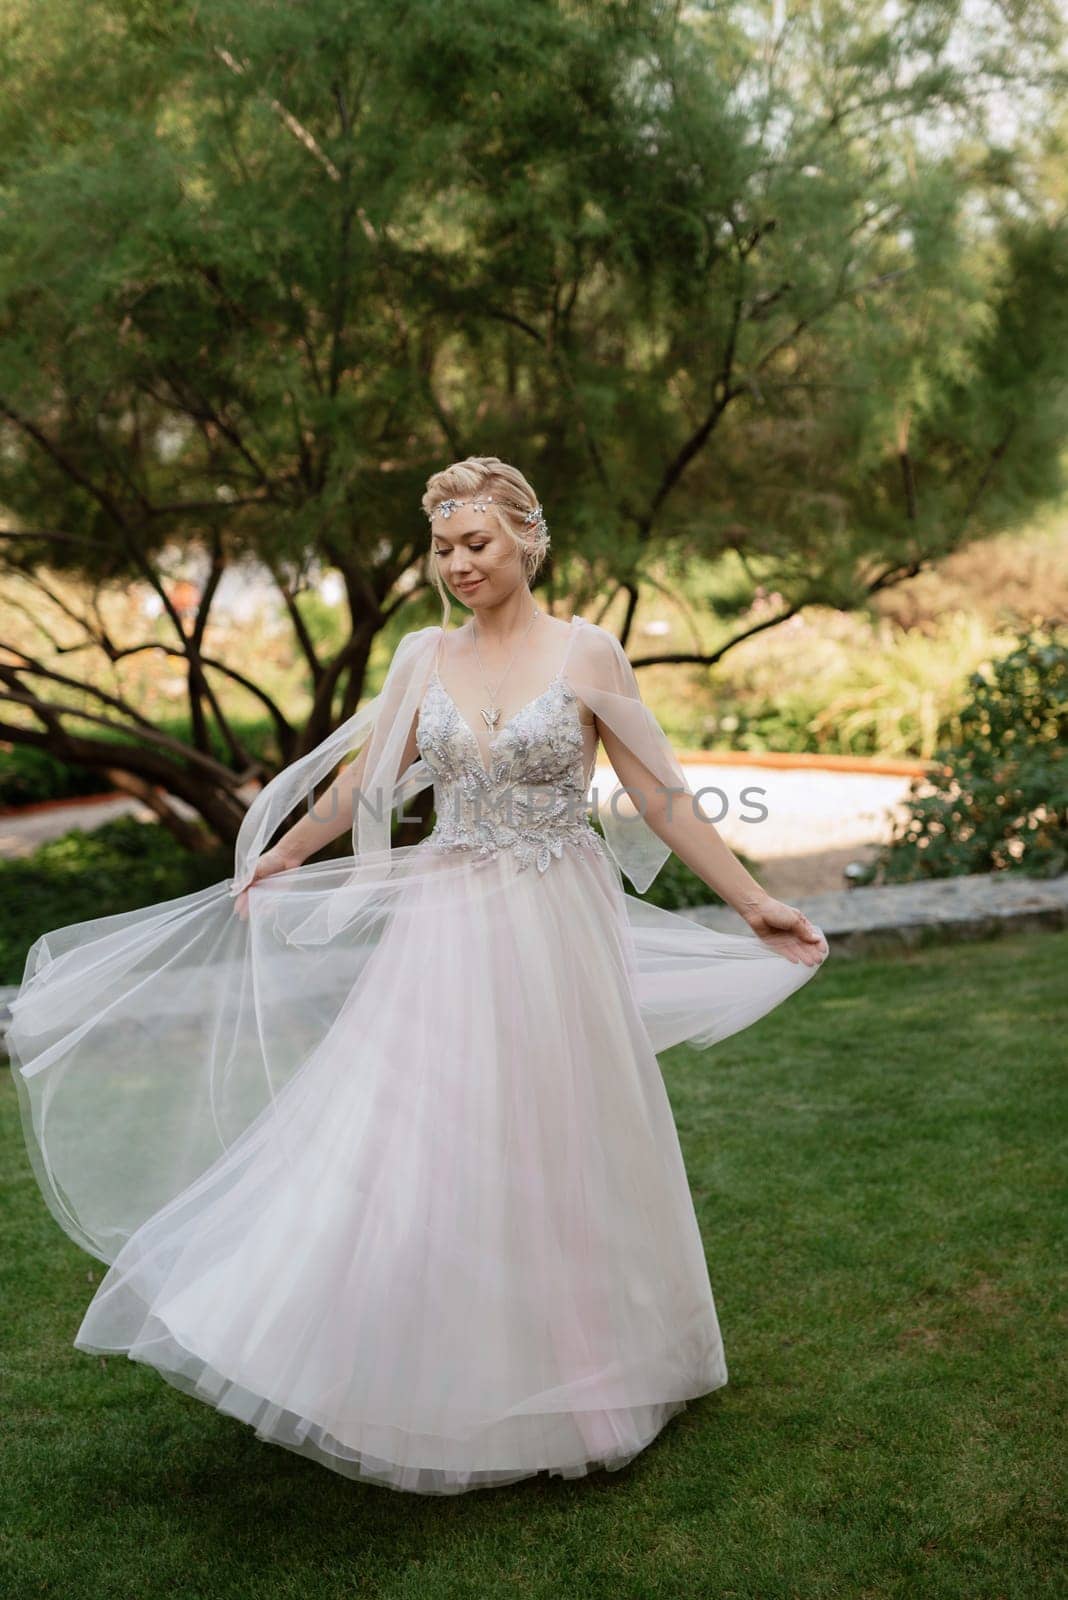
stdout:
[[520,869],[545,872],[564,845],[604,854],[587,818],[588,774],[579,701],[563,672],[521,706],[489,742],[478,741],[436,670],[416,723],[419,754],[433,774],[432,850],[512,851]]

